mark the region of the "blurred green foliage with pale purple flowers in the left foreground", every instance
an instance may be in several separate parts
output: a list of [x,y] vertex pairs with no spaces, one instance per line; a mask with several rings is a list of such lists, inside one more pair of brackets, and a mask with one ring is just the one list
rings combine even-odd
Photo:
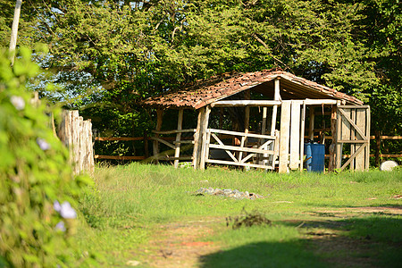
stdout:
[[[38,74],[22,48],[13,68],[0,53],[0,265],[71,267],[85,260],[71,234],[76,214],[56,212],[54,201],[76,205],[87,177],[73,179],[68,152],[50,128],[42,104],[32,105],[25,85]],[[75,215],[75,216],[74,216]]]

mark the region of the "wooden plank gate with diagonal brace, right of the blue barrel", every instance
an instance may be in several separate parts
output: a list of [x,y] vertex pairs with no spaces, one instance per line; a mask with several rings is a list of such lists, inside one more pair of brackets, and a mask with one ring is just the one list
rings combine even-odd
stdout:
[[[336,136],[337,168],[343,171],[350,164],[350,170],[368,170],[370,162],[370,106],[339,105]],[[350,157],[342,165],[344,149],[350,149]]]

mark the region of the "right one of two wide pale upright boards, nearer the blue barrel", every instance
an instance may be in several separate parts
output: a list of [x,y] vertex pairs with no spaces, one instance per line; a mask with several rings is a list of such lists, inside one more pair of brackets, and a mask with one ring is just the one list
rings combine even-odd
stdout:
[[289,162],[291,170],[296,170],[300,164],[300,105],[302,101],[291,101]]

